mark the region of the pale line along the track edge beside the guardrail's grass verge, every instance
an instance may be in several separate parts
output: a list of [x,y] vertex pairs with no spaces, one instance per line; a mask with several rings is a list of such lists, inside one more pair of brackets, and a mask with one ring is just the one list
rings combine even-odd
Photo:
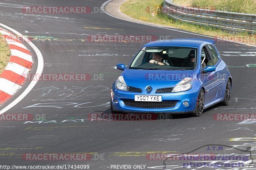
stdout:
[[[113,0],[108,0],[108,1],[104,2],[104,3],[101,5],[100,9],[101,9],[104,13],[106,13],[107,15],[109,15],[109,16],[111,16],[111,17],[114,17],[114,18],[117,18],[117,17],[111,15],[110,13],[108,13],[107,11],[105,11],[105,6],[106,6],[108,3],[110,3],[111,1],[113,1]],[[121,19],[121,18],[117,18],[117,19]],[[134,21],[125,20],[125,19],[121,19],[121,20],[128,21],[128,22],[133,22],[133,23],[136,23],[136,24],[142,24],[142,23],[137,23],[137,22],[134,22]],[[135,20],[135,19],[134,19],[134,20]],[[143,21],[142,21],[142,22],[143,22]],[[149,24],[142,24],[142,25],[152,26],[152,25],[149,25]],[[177,31],[177,32],[180,32],[180,33],[187,33],[187,34],[198,35],[198,36],[202,36],[202,37],[208,37],[208,38],[218,39],[218,40],[225,40],[225,41],[229,41],[229,42],[234,42],[234,43],[238,43],[238,44],[244,44],[244,45],[249,45],[249,46],[252,46],[252,47],[256,47],[256,45],[251,45],[251,44],[246,44],[246,43],[236,42],[236,41],[230,41],[230,40],[226,40],[226,39],[222,39],[222,38],[211,37],[211,36],[208,36],[208,35],[202,35],[202,34],[197,34],[197,33],[189,33],[189,32],[186,32],[186,31],[175,30],[175,29],[171,29],[171,28],[158,27],[158,26],[154,26],[154,27],[163,28],[163,29],[172,30],[172,31]]]

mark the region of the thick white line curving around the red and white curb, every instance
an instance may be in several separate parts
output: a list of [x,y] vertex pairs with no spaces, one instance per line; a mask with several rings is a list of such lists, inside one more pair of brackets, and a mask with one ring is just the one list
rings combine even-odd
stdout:
[[[21,33],[19,33],[18,31],[10,28],[9,26],[6,26],[4,24],[1,24],[0,23],[0,26],[12,31],[13,33],[15,33],[16,35],[22,35]],[[24,37],[22,35],[22,37]],[[43,72],[43,69],[44,69],[44,58],[43,58],[43,55],[42,53],[40,52],[40,50],[30,41],[28,40],[27,38],[23,38],[27,43],[28,45],[30,45],[31,48],[33,48],[33,50],[36,52],[36,56],[37,56],[37,60],[38,60],[38,63],[37,63],[37,69],[36,69],[36,75],[37,74],[42,74]],[[7,105],[6,107],[4,107],[2,110],[0,110],[0,115],[3,114],[4,112],[8,111],[10,108],[12,108],[13,106],[15,106],[17,103],[19,103],[32,89],[33,87],[36,85],[36,83],[38,82],[38,80],[34,80],[34,81],[31,81],[30,84],[28,85],[28,87],[24,90],[24,92],[22,92],[20,94],[20,96],[18,96],[15,100],[13,100],[9,105]]]

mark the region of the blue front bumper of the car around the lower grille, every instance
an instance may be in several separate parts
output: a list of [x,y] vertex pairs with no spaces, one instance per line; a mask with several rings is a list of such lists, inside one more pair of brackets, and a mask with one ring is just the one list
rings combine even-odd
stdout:
[[[196,107],[196,100],[198,96],[198,91],[196,89],[190,89],[185,92],[171,92],[171,93],[137,93],[137,92],[127,92],[122,90],[117,90],[115,88],[112,89],[112,100],[111,104],[113,110],[118,112],[125,113],[173,113],[173,114],[181,114],[181,113],[194,113]],[[143,108],[143,107],[131,107],[124,104],[124,100],[133,100],[134,95],[161,95],[162,101],[176,101],[176,105],[174,107],[164,107],[164,108]],[[113,101],[117,100],[117,104]],[[184,106],[183,102],[188,101],[189,105]]]

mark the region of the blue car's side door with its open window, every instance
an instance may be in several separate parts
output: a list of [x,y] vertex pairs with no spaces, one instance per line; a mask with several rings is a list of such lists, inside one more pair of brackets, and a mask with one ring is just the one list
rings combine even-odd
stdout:
[[[205,45],[201,50],[201,58],[205,55],[205,64],[206,67],[210,65],[214,65],[213,60],[211,58],[210,52]],[[203,73],[203,84],[205,90],[205,100],[204,103],[209,103],[216,99],[216,95],[218,93],[218,71],[212,71],[208,73]]]

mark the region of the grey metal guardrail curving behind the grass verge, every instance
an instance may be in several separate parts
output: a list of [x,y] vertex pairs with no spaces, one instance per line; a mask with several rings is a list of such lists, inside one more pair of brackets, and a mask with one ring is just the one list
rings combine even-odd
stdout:
[[164,0],[163,12],[173,19],[192,24],[256,33],[254,14],[188,8],[173,4],[172,0]]

